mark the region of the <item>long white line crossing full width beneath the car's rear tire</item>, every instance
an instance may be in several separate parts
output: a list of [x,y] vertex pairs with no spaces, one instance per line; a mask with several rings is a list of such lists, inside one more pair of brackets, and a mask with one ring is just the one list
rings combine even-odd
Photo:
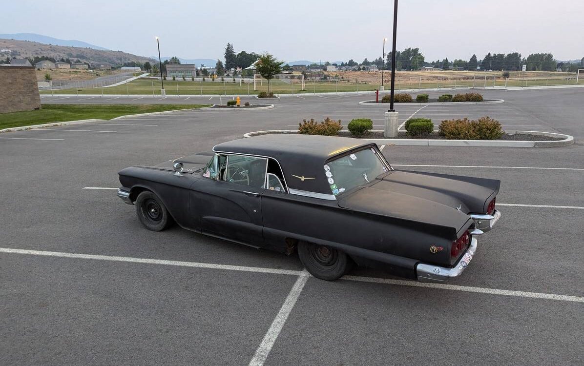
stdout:
[[[273,269],[273,268],[265,268],[265,267],[232,266],[230,264],[183,262],[183,261],[178,261],[178,260],[166,260],[166,259],[102,256],[102,255],[67,253],[67,252],[47,252],[45,250],[0,248],[0,253],[12,253],[12,254],[46,256],[46,257],[75,258],[75,259],[106,260],[106,261],[112,261],[112,262],[161,264],[164,266],[195,267],[195,268],[204,268],[204,269],[244,271],[244,272],[253,272],[253,273],[287,274],[287,275],[291,275],[291,276],[301,276],[301,277],[310,276],[304,270],[298,271],[298,270]],[[434,284],[434,283],[419,283],[417,281],[392,280],[389,278],[374,278],[374,277],[361,277],[361,276],[344,276],[344,277],[342,277],[342,279],[349,280],[349,281],[386,283],[386,284],[392,284],[392,285],[402,285],[402,286],[411,286],[411,287],[439,288],[442,290],[482,292],[485,294],[509,295],[509,296],[526,297],[526,298],[539,298],[539,299],[572,301],[572,302],[583,302],[584,303],[584,297],[582,297],[582,296],[546,294],[546,293],[540,293],[540,292],[524,292],[524,291],[515,291],[515,290],[500,290],[498,288],[484,288],[484,287],[459,286],[459,285]],[[298,283],[298,281],[297,281],[297,283]]]

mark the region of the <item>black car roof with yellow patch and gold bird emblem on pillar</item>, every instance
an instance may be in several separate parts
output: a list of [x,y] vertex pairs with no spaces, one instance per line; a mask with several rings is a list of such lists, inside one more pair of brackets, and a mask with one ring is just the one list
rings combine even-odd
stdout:
[[[324,174],[333,156],[373,145],[366,140],[300,134],[267,134],[215,145],[213,151],[265,156],[279,162],[289,189],[326,194],[331,188]],[[303,177],[305,179],[303,179]],[[334,199],[334,196],[332,196]]]

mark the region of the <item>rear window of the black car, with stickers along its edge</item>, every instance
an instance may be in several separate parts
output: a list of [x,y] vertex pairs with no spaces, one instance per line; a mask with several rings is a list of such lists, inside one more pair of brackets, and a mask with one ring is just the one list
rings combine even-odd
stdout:
[[389,168],[379,155],[375,148],[366,148],[326,163],[324,173],[332,193],[342,194],[388,172]]

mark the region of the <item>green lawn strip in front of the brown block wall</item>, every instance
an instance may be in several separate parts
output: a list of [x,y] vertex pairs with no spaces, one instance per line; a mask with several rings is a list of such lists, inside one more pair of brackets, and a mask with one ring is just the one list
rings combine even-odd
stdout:
[[0,130],[62,121],[98,118],[110,120],[126,114],[151,113],[165,110],[194,109],[211,104],[42,104],[39,110],[0,113]]

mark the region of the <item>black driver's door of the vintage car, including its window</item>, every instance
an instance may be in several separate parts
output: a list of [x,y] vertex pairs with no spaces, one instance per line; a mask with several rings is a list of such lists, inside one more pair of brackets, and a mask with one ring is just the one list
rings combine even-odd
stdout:
[[201,232],[255,247],[263,246],[261,195],[267,159],[245,155],[214,157],[193,185],[193,215]]

